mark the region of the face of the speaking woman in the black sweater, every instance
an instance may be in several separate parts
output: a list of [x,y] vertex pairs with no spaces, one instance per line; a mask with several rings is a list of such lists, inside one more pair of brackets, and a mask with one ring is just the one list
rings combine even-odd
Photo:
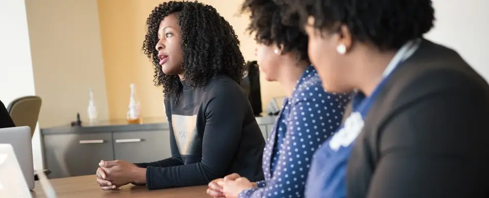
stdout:
[[181,37],[178,25],[178,13],[171,13],[160,23],[158,29],[158,43],[155,49],[163,73],[167,75],[178,75],[184,72],[182,68],[183,55],[180,49]]

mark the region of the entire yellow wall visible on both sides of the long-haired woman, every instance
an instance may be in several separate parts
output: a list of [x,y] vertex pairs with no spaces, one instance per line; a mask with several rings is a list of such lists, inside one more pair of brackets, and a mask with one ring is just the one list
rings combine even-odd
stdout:
[[[163,93],[153,83],[151,62],[143,54],[145,22],[161,0],[99,0],[100,34],[111,119],[124,119],[129,104],[129,84],[135,83],[143,117],[164,117]],[[245,32],[248,17],[238,16],[242,1],[204,0],[234,27],[246,60],[255,60],[255,42]],[[283,95],[277,83],[261,79],[264,109],[272,97]]]

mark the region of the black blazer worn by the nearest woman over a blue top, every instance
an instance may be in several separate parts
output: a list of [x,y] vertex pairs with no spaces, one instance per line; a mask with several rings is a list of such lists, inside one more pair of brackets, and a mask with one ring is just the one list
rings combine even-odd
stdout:
[[348,161],[348,198],[489,197],[489,86],[423,40],[393,71]]

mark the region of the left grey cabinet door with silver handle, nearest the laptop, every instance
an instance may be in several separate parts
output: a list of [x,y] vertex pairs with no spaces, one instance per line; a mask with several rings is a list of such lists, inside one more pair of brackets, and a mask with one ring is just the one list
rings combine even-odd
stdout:
[[43,143],[49,178],[92,175],[100,160],[114,160],[110,132],[48,134]]

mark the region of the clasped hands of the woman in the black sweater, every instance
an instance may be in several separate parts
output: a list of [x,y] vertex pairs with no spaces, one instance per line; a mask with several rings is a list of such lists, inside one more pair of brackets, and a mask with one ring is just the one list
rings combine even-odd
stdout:
[[[146,169],[124,160],[101,160],[97,169],[97,184],[102,190],[120,190],[130,183],[145,184]],[[144,177],[144,181],[143,181]]]

